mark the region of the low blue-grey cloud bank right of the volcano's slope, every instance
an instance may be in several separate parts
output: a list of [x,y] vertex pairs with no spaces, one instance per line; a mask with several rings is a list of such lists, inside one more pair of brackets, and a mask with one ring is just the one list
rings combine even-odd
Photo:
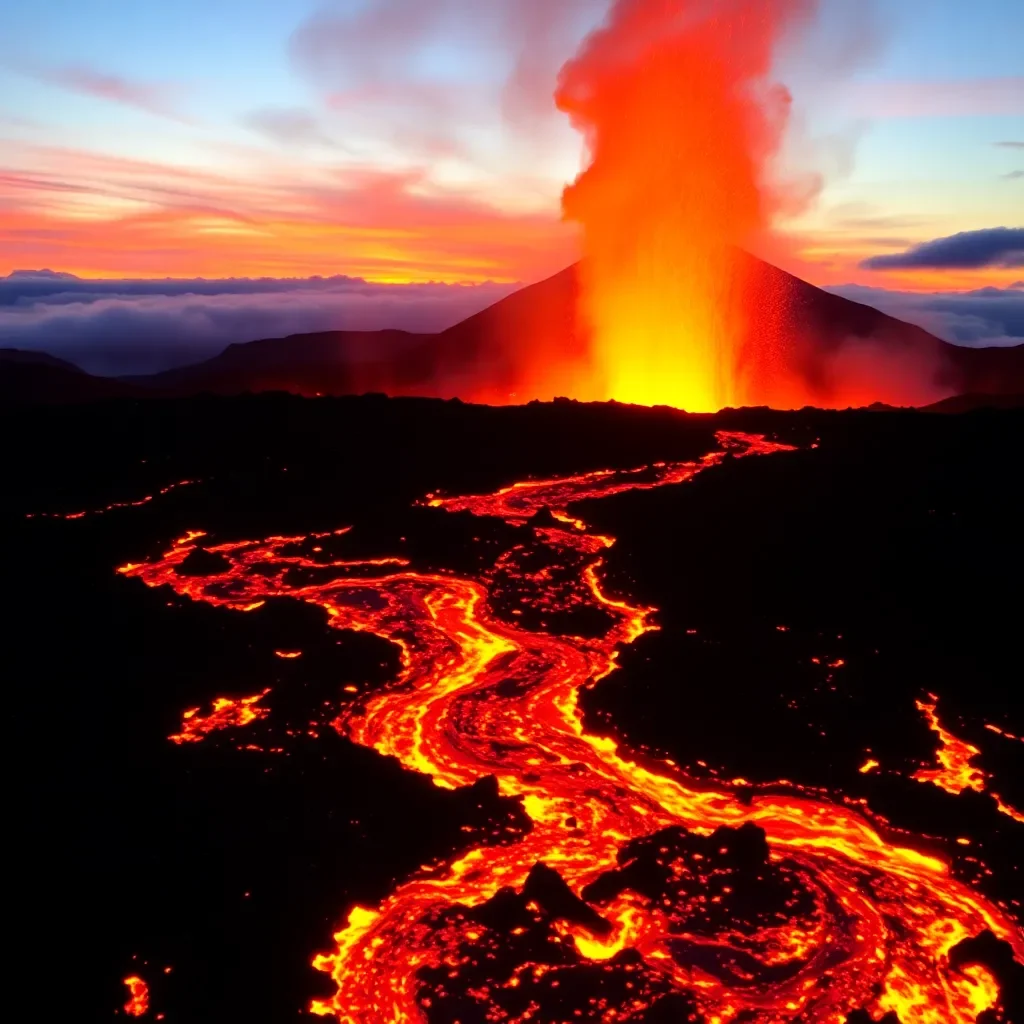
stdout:
[[916,324],[954,345],[1024,344],[1024,281],[974,292],[921,294],[861,285],[839,285],[827,291]]

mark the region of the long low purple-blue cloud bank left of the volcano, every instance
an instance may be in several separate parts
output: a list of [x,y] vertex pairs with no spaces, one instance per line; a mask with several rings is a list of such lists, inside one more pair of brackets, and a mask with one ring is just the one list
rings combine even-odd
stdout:
[[0,278],[0,348],[104,376],[157,373],[234,342],[313,331],[433,333],[514,285],[374,285],[357,278],[90,281],[53,271]]

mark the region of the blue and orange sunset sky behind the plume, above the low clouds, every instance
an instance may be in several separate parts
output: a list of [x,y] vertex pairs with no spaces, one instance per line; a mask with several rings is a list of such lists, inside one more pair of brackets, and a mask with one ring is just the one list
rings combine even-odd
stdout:
[[[557,72],[607,6],[0,0],[0,275],[539,280],[578,255]],[[991,232],[1024,224],[1024,4],[820,0],[808,33],[776,75],[820,187],[779,261],[916,306],[1019,291]]]

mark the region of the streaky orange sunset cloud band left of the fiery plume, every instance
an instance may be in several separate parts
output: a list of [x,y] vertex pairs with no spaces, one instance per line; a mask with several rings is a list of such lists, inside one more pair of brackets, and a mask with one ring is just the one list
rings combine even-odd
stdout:
[[221,172],[33,147],[0,168],[0,272],[522,281],[574,258],[557,213],[503,210],[420,170]]

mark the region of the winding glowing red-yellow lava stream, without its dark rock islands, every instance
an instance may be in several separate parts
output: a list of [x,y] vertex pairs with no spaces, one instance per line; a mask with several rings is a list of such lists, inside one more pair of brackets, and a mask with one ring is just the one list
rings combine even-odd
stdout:
[[[728,787],[703,782],[698,787],[671,765],[638,764],[611,739],[584,732],[580,689],[615,668],[621,644],[655,627],[653,609],[604,592],[601,552],[613,542],[586,532],[567,506],[684,482],[721,463],[728,452],[788,450],[756,435],[718,437],[722,450],[695,463],[429,499],[434,507],[518,523],[550,510],[566,528],[538,525],[534,544],[557,554],[559,567],[571,571],[525,571],[528,545],[507,552],[496,571],[501,568],[523,588],[524,606],[603,609],[612,625],[597,638],[531,632],[498,620],[487,607],[493,577],[468,580],[406,568],[381,573],[377,566],[396,560],[329,561],[303,552],[306,538],[210,548],[225,559],[224,571],[179,575],[177,566],[201,536],[190,534],[162,559],[119,570],[148,586],[169,585],[195,600],[236,609],[256,607],[268,597],[308,601],[326,610],[333,628],[368,631],[395,643],[402,660],[398,679],[362,707],[344,712],[336,728],[440,786],[494,775],[501,793],[520,798],[532,820],[531,831],[517,843],[477,847],[451,864],[425,868],[381,906],[352,909],[335,936],[336,948],[314,959],[337,991],[316,1000],[313,1013],[345,1024],[422,1020],[430,999],[419,972],[444,966],[455,978],[466,962],[460,948],[472,947],[485,931],[464,915],[441,920],[445,911],[478,907],[505,888],[520,890],[539,861],[581,894],[623,866],[618,854],[633,841],[673,827],[709,836],[748,823],[766,836],[766,870],[786,872],[802,890],[810,907],[802,918],[794,910],[756,928],[737,923],[709,935],[684,927],[684,908],[627,890],[595,904],[609,930],[564,922],[555,927],[565,941],[571,939],[582,964],[616,970],[621,951],[634,951],[648,976],[687,992],[709,1024],[726,1024],[740,1014],[743,1021],[761,1024],[842,1024],[857,1008],[876,1017],[896,1011],[903,1024],[966,1024],[996,1005],[991,974],[981,966],[954,969],[949,951],[990,929],[1024,961],[1024,935],[938,857],[894,845],[848,807],[800,793],[757,793],[742,802]],[[240,723],[232,718],[223,724]],[[679,877],[682,868],[676,869]],[[793,905],[798,904],[795,897]],[[675,954],[680,944],[689,950],[684,956]],[[478,958],[483,950],[480,946]],[[726,961],[732,957],[731,971],[722,967],[725,954]],[[753,973],[735,966],[740,962],[754,965]],[[518,985],[520,977],[496,977],[473,990],[478,1019],[520,1021],[536,1015],[534,1010],[513,1017],[498,1005],[500,991]],[[637,1000],[618,1009],[604,1000],[592,1004],[575,1019],[625,1020],[643,1009]]]

